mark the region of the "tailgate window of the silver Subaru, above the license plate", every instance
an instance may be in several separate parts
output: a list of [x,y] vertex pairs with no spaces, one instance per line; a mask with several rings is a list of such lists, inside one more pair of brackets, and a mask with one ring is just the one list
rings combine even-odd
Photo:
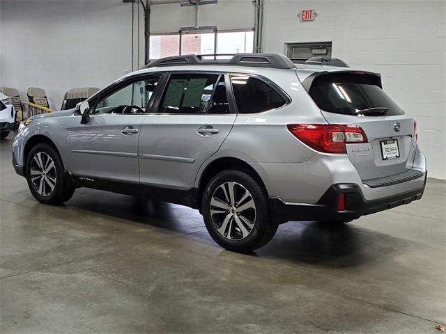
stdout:
[[309,95],[320,109],[331,113],[356,115],[367,109],[385,109],[385,116],[404,113],[378,86],[372,74],[325,74],[314,79]]

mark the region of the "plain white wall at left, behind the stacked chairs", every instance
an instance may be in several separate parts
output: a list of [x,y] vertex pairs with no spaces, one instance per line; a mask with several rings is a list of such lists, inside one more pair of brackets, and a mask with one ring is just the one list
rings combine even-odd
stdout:
[[130,70],[131,19],[122,0],[0,0],[0,86],[44,88],[54,109],[71,88],[102,88]]

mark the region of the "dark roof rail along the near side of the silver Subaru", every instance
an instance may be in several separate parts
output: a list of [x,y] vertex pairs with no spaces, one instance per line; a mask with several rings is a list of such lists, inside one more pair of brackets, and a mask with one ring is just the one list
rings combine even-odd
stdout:
[[[214,59],[203,59],[207,56]],[[231,59],[216,59],[217,56],[232,56]],[[186,54],[157,59],[144,68],[177,65],[236,65],[290,69],[295,64],[283,54]]]

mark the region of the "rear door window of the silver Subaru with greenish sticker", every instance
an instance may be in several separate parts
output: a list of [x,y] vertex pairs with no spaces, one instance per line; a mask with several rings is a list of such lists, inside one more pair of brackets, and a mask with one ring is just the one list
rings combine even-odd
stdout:
[[172,74],[158,113],[230,113],[223,74]]

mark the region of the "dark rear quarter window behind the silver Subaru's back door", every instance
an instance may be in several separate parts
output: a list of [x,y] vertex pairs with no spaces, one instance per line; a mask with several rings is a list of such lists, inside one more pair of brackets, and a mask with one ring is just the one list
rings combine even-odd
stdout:
[[262,113],[286,104],[285,99],[266,82],[244,75],[231,75],[238,113]]

